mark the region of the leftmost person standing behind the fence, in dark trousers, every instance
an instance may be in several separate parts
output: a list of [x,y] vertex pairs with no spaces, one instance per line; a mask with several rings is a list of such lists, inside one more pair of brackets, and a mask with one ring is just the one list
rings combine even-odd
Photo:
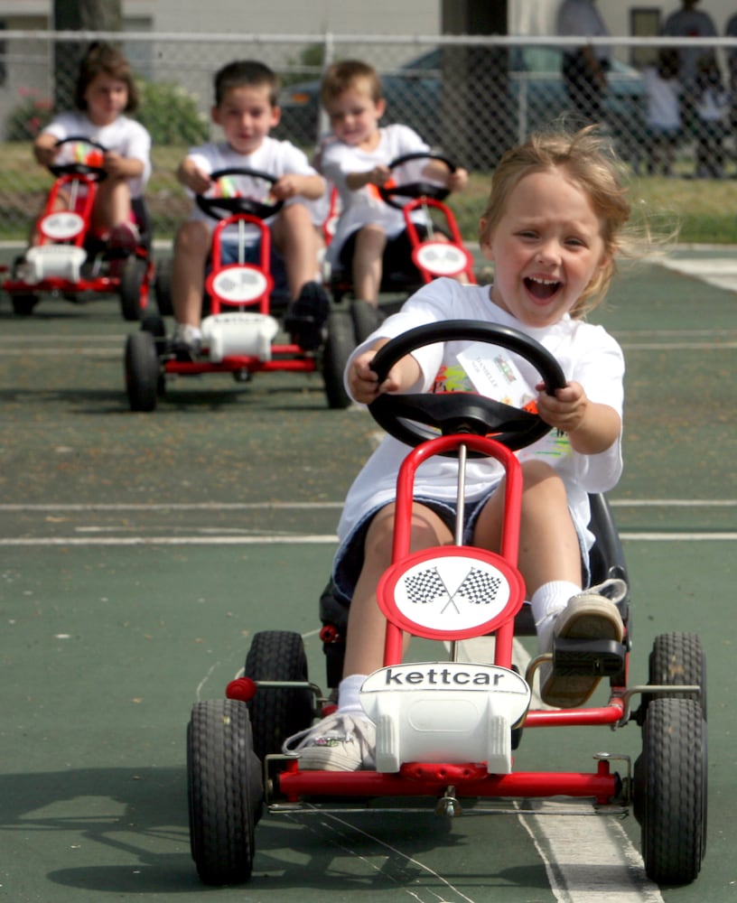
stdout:
[[[558,7],[557,33],[583,38],[607,37],[609,29],[593,0],[564,0]],[[564,49],[562,73],[565,90],[586,122],[602,121],[602,99],[610,58],[610,48],[601,44],[594,46],[586,42]]]

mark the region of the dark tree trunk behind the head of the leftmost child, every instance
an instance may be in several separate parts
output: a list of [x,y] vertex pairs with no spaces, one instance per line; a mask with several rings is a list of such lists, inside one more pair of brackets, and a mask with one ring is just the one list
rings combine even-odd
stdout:
[[[53,0],[56,32],[120,32],[123,26],[121,0]],[[79,41],[54,42],[54,107],[74,106],[77,70],[86,47]]]

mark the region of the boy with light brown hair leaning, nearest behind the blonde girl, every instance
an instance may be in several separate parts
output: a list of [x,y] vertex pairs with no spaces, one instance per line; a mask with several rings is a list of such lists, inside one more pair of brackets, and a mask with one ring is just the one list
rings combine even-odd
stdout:
[[[356,298],[376,305],[383,272],[406,270],[412,253],[404,213],[381,200],[378,188],[393,175],[388,163],[404,154],[430,153],[430,147],[408,126],[379,127],[387,104],[381,79],[367,63],[333,64],[322,79],[321,97],[332,128],[322,146],[321,172],[337,188],[342,209],[327,259],[350,272]],[[468,181],[465,170],[448,172],[440,161],[420,165],[425,178],[451,191]],[[422,220],[418,232],[423,232]]]

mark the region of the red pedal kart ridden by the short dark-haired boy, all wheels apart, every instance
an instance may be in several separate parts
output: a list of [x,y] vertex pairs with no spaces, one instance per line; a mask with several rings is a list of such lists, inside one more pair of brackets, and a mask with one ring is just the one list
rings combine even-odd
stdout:
[[[238,177],[266,182],[268,186],[277,181],[266,172],[245,168],[223,169],[211,175],[216,186],[222,180]],[[216,191],[219,192],[217,188]],[[271,233],[265,220],[281,208],[281,201],[220,193],[196,200],[202,210],[218,220],[212,233],[211,269],[205,284],[210,315],[201,324],[201,353],[193,360],[178,359],[172,340],[166,336],[163,318],[147,317],[141,330],[126,341],[126,389],[131,410],[153,411],[158,396],[165,392],[166,377],[230,373],[246,382],[255,373],[277,370],[322,371],[328,404],[332,408],[350,405],[343,387],[343,369],[355,348],[348,312],[330,312],[323,340],[316,349],[303,349],[293,339],[276,340],[280,324],[272,315],[275,279],[271,272]],[[254,230],[257,242],[253,241]],[[226,232],[230,239],[235,233],[235,240],[226,242]],[[225,253],[227,244],[232,249],[230,254]],[[250,262],[249,249],[255,249],[255,262]],[[229,263],[229,256],[235,261]],[[165,272],[162,269],[160,275]],[[160,310],[171,310],[169,285],[157,286],[156,294]]]

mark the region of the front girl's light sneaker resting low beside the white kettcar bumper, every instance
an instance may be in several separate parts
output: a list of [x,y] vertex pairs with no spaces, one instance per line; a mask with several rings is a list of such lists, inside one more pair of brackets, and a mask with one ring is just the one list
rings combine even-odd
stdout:
[[303,770],[366,770],[375,766],[376,727],[361,712],[334,712],[287,738],[282,749],[297,753]]

